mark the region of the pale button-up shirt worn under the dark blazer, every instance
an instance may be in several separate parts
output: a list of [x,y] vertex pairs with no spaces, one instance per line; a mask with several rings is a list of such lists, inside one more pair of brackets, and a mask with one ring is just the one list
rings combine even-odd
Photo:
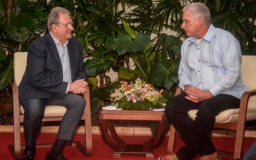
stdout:
[[71,79],[71,70],[70,70],[70,65],[69,65],[69,54],[68,54],[68,47],[67,44],[69,41],[65,42],[63,47],[61,45],[61,43],[52,35],[52,33],[50,32],[53,41],[56,44],[58,53],[59,53],[59,57],[60,57],[60,61],[61,61],[61,65],[62,65],[62,71],[63,71],[63,82],[68,82],[68,87],[66,90],[66,94],[69,91],[69,83],[72,82]]

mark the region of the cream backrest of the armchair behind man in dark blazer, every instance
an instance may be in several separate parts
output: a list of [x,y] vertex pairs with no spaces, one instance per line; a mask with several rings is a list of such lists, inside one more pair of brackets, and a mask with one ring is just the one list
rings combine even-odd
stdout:
[[14,81],[19,85],[27,66],[28,52],[15,52],[13,59]]

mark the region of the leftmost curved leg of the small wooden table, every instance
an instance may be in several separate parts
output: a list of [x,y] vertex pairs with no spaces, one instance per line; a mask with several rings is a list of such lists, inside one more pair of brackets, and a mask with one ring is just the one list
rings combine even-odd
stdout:
[[116,145],[111,137],[109,136],[108,132],[108,120],[99,120],[100,123],[100,131],[103,138],[103,141],[112,149],[115,150],[125,150],[124,146]]

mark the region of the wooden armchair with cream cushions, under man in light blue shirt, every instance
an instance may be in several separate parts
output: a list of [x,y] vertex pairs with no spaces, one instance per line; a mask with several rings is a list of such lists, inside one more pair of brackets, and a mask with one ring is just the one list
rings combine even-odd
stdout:
[[[244,92],[240,101],[239,109],[225,110],[216,116],[214,128],[223,128],[236,130],[236,140],[234,146],[234,159],[241,159],[243,149],[244,127],[245,121],[252,121],[256,119],[256,56],[243,55],[241,64],[241,74],[244,84],[247,86],[248,91]],[[175,96],[182,92],[178,88]],[[197,110],[188,111],[190,118],[195,120]],[[170,126],[169,141],[168,141],[168,154],[174,152],[176,129],[173,125]]]

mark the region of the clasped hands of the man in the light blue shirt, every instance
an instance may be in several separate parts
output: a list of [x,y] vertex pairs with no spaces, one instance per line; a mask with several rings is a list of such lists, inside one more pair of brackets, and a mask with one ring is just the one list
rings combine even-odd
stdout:
[[204,91],[199,89],[198,87],[192,85],[185,85],[185,96],[186,99],[191,100],[193,102],[198,103],[199,101],[204,101],[206,99],[212,98],[213,95],[210,91]]

